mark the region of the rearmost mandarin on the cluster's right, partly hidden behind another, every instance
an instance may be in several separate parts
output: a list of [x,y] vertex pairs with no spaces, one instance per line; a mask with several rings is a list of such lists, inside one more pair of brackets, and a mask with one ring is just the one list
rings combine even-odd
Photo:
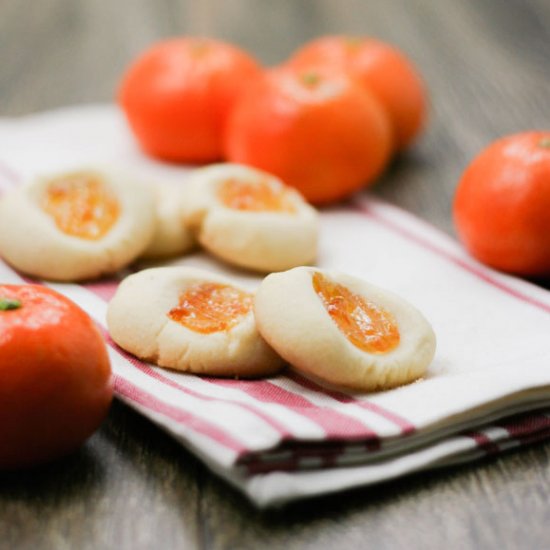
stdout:
[[346,71],[361,82],[386,109],[396,150],[408,147],[425,124],[424,83],[412,63],[389,44],[371,38],[325,36],[299,49],[288,63],[297,68],[318,65]]

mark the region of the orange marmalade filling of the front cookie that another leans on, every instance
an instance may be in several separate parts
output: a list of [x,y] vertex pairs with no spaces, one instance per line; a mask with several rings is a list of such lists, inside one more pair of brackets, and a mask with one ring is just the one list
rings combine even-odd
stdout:
[[252,295],[219,283],[195,283],[180,294],[179,303],[168,312],[172,321],[185,328],[210,334],[234,327],[252,309]]

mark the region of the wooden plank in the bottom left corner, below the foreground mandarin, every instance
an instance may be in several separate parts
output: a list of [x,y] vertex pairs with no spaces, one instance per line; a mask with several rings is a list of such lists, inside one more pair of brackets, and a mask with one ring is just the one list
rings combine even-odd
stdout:
[[200,543],[204,467],[115,402],[73,456],[0,474],[0,548],[163,548]]

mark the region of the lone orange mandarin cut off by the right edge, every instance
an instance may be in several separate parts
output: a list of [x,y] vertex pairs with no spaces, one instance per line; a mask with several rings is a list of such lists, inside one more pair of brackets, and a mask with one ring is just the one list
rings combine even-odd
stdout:
[[494,142],[464,172],[453,205],[457,233],[481,262],[550,275],[550,132]]

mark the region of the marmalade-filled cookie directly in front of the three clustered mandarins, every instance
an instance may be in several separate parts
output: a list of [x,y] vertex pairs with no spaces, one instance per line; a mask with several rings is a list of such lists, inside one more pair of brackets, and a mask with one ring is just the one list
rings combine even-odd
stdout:
[[314,261],[317,212],[278,178],[218,164],[197,170],[187,187],[184,218],[212,254],[257,271]]

